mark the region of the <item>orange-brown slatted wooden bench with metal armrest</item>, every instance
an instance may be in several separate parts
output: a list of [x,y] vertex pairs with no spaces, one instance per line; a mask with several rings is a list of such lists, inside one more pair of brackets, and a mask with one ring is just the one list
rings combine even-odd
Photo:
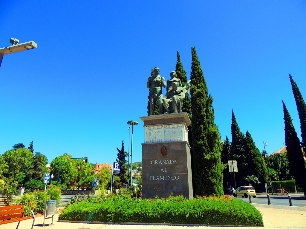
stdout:
[[[31,211],[32,216],[24,216],[25,212]],[[33,224],[31,229],[33,229],[35,222],[35,215],[32,210],[24,211],[24,205],[13,205],[13,206],[5,206],[0,207],[0,225],[1,224],[9,224],[13,222],[18,222],[16,229],[18,228],[20,221],[33,219]]]

